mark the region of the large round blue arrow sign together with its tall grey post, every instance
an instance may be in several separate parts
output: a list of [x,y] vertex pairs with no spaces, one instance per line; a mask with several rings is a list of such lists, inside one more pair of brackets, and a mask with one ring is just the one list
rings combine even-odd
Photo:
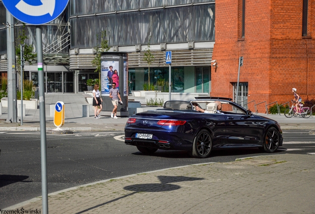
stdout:
[[[5,8],[19,21],[42,25],[56,19],[66,8],[69,0],[2,0]],[[32,2],[32,4],[28,3]],[[11,23],[13,26],[13,22]],[[11,38],[8,38],[11,40]],[[14,41],[14,39],[13,39]],[[13,42],[12,41],[12,42]],[[8,41],[9,42],[9,41]],[[42,29],[36,27],[36,51],[40,101],[40,128],[41,128],[41,165],[42,165],[42,199],[43,214],[48,214],[48,191],[47,191],[47,151],[46,151],[46,115],[45,115],[45,92],[43,71],[43,39]]]

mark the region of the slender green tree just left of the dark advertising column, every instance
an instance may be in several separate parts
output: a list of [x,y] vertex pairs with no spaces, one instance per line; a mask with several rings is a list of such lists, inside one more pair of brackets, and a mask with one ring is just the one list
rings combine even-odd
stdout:
[[[97,41],[99,41],[99,37],[99,34],[97,34]],[[106,37],[106,30],[101,31],[101,44],[95,47],[97,53],[95,55],[95,58],[92,60],[92,64],[96,67],[94,72],[99,72],[99,80],[101,80],[101,52],[108,52],[109,50],[108,40],[106,40]]]

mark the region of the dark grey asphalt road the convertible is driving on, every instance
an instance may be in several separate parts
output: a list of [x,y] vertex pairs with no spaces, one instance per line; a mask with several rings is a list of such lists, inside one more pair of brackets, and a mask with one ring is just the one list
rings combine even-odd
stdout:
[[[128,174],[206,162],[268,155],[258,149],[212,151],[208,159],[194,159],[182,151],[138,152],[122,140],[123,132],[82,132],[47,135],[49,193]],[[315,135],[285,131],[277,153],[315,153]],[[0,209],[41,196],[39,132],[0,132]]]

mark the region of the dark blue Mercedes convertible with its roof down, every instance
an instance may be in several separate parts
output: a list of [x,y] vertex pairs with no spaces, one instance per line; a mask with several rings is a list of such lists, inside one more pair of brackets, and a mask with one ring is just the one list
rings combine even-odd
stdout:
[[167,101],[163,108],[132,115],[125,126],[125,144],[145,154],[185,150],[207,158],[215,149],[248,147],[272,153],[282,142],[278,122],[223,98]]

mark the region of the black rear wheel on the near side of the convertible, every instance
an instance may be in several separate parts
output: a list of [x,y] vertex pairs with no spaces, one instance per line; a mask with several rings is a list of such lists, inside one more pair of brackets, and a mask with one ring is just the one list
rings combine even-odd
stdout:
[[196,135],[191,156],[194,158],[208,158],[212,150],[212,137],[209,131],[202,129]]

